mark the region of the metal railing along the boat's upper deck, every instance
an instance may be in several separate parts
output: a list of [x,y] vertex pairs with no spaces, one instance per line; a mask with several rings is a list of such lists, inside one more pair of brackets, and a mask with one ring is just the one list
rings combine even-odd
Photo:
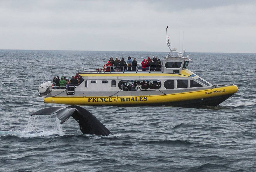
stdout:
[[138,72],[162,72],[163,66],[104,66],[97,68],[97,73],[138,73]]

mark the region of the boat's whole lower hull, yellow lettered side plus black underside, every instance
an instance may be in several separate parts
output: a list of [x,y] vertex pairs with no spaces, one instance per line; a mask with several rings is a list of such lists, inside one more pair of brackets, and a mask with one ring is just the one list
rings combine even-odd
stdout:
[[200,106],[218,105],[236,93],[236,85],[214,87],[200,91],[182,92],[175,94],[145,95],[145,96],[113,96],[113,97],[45,97],[45,103],[68,105],[173,105],[173,106]]

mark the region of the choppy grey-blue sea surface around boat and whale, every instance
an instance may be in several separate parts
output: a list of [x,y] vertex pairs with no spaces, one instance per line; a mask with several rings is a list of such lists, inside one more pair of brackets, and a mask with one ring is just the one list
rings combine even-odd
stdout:
[[[44,80],[110,57],[166,52],[0,50],[0,171],[256,171],[256,54],[190,53],[189,69],[239,90],[215,107],[82,106],[113,135],[83,135],[70,118],[33,116]],[[58,105],[57,105],[58,106]],[[65,105],[66,106],[66,105]]]

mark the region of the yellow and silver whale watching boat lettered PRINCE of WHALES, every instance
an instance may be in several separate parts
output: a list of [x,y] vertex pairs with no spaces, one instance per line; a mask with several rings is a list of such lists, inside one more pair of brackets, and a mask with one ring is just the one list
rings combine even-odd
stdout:
[[237,92],[237,85],[213,85],[187,69],[190,56],[170,52],[160,65],[103,66],[95,71],[77,72],[82,83],[59,87],[50,81],[38,87],[45,103],[68,105],[171,105],[179,107],[216,106]]

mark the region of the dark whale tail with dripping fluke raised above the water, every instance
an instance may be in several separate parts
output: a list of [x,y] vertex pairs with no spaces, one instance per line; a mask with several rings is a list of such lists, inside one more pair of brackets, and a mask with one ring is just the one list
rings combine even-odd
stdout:
[[34,112],[32,115],[51,115],[55,114],[61,123],[67,121],[70,117],[73,117],[78,123],[81,132],[83,134],[95,134],[106,136],[111,132],[88,110],[77,105],[71,105],[68,107],[57,106],[47,107]]

